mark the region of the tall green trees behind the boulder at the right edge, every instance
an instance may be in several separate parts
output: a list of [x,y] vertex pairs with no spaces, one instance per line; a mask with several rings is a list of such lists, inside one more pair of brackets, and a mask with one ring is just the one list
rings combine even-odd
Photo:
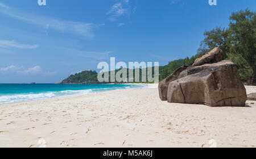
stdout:
[[256,12],[241,10],[233,12],[229,28],[217,27],[204,33],[201,50],[205,53],[214,47],[220,47],[227,60],[233,60],[243,81],[255,82],[256,72]]

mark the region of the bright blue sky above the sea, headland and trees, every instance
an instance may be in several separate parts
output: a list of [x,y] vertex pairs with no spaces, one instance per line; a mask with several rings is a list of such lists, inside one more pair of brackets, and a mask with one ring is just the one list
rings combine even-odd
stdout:
[[195,55],[204,31],[228,27],[255,0],[0,0],[0,83],[54,83],[100,61]]

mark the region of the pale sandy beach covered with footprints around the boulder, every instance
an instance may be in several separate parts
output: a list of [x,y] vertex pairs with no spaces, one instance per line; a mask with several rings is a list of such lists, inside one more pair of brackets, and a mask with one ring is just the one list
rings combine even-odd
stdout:
[[2,104],[0,147],[255,147],[253,101],[167,103],[156,86]]

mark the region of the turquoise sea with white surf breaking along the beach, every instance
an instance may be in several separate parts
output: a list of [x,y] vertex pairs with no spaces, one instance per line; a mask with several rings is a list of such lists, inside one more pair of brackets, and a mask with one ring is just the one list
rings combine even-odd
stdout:
[[68,95],[81,95],[117,89],[133,89],[140,85],[68,85],[68,84],[0,84],[0,104]]

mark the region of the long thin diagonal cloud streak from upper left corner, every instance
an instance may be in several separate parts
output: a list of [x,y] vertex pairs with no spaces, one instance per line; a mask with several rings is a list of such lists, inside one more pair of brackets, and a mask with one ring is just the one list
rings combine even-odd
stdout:
[[18,10],[6,10],[0,8],[0,12],[15,19],[22,20],[23,22],[34,24],[38,27],[43,27],[46,30],[56,30],[60,32],[67,32],[69,34],[82,35],[88,39],[94,38],[92,29],[93,27],[97,27],[97,25],[93,23],[59,20],[55,18],[49,18],[47,16],[27,14]]

